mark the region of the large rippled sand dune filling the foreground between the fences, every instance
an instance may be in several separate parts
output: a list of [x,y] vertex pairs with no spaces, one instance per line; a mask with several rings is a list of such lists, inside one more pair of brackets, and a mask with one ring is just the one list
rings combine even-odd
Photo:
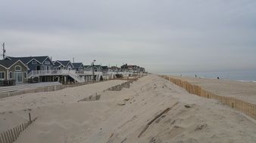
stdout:
[[[5,98],[0,101],[0,112],[5,111],[1,129],[26,120],[24,109],[30,108],[39,118],[17,143],[256,142],[255,120],[214,99],[189,94],[157,75],[140,78],[129,89],[101,92],[119,82]],[[97,91],[99,100],[76,102]]]

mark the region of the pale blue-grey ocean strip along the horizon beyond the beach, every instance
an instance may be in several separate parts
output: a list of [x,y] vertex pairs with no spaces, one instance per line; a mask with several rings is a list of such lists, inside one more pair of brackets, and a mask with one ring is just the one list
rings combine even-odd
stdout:
[[175,72],[175,73],[161,73],[161,75],[176,75],[189,76],[198,78],[217,78],[231,80],[231,81],[251,81],[256,82],[256,69],[253,70],[239,70],[239,71],[207,71],[207,72]]

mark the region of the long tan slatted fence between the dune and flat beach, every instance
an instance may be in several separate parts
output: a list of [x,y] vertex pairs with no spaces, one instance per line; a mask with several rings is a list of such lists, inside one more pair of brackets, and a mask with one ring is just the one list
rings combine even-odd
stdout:
[[179,87],[183,87],[189,93],[208,99],[217,99],[224,105],[228,105],[231,108],[235,108],[236,110],[256,120],[256,105],[250,102],[245,102],[244,100],[236,99],[234,97],[218,96],[214,93],[202,89],[198,85],[190,84],[188,81],[182,81],[180,79],[171,78],[170,76],[166,75],[161,75],[161,77],[167,79],[168,81],[172,82],[173,84],[176,84]]

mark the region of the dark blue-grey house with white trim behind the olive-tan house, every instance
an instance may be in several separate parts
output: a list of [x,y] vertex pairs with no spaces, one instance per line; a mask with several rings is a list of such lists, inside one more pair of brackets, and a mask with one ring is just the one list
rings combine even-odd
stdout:
[[49,56],[24,56],[24,57],[13,57],[7,56],[5,59],[9,60],[18,60],[20,59],[25,65],[27,65],[30,71],[39,71],[39,70],[52,70],[53,69],[53,62],[49,58]]

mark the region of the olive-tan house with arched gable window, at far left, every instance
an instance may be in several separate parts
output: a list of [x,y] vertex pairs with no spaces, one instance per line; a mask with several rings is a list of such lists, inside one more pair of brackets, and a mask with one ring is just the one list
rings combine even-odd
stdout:
[[29,68],[20,59],[0,60],[0,80],[14,80],[16,84],[27,81],[27,71]]

